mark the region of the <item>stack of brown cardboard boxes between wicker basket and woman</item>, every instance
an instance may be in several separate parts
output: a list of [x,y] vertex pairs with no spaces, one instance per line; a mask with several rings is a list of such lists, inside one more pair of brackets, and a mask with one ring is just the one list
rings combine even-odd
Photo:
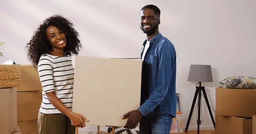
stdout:
[[21,65],[21,86],[17,88],[17,126],[21,134],[38,134],[38,112],[42,102],[42,86],[38,71]]

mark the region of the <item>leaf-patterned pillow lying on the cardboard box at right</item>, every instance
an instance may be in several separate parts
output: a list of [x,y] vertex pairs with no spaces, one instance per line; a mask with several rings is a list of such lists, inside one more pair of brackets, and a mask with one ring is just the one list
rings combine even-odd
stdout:
[[220,81],[219,86],[230,89],[256,89],[256,78],[247,76],[228,77]]

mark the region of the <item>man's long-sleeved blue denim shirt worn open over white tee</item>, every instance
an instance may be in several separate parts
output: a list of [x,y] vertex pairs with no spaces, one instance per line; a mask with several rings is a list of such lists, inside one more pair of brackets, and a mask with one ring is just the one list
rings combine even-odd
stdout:
[[[143,43],[141,58],[146,42]],[[138,110],[143,116],[169,113],[176,117],[176,51],[172,42],[161,33],[149,40],[141,80],[141,106]]]

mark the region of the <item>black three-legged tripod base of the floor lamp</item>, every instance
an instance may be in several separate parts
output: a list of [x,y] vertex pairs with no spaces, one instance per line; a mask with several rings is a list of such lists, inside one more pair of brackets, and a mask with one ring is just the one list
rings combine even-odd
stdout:
[[192,116],[192,113],[193,113],[193,109],[195,107],[195,101],[197,99],[197,96],[198,96],[198,120],[197,120],[197,124],[198,124],[198,134],[199,134],[199,130],[200,130],[200,125],[201,125],[201,91],[203,91],[203,94],[204,94],[204,98],[205,98],[205,101],[206,101],[206,104],[207,104],[207,107],[208,107],[208,110],[209,110],[209,113],[210,113],[210,116],[212,118],[212,123],[213,123],[213,126],[215,128],[215,121],[213,119],[213,116],[212,116],[212,111],[211,111],[211,108],[210,108],[210,104],[209,104],[209,101],[208,101],[208,98],[207,98],[207,95],[206,95],[206,92],[205,92],[205,89],[204,87],[201,87],[201,82],[200,83],[200,86],[199,87],[196,87],[196,91],[195,91],[195,96],[194,96],[194,100],[193,100],[193,103],[192,103],[192,106],[191,106],[191,109],[190,109],[190,113],[189,113],[189,119],[188,119],[188,122],[186,124],[186,129],[185,131],[188,131],[188,128],[189,128],[189,123],[190,123],[190,120],[191,120],[191,116]]

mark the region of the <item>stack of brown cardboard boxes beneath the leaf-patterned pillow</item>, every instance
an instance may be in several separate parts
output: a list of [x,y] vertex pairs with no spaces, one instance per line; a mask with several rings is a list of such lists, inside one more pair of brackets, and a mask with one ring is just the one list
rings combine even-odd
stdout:
[[256,89],[216,88],[216,134],[252,134]]

